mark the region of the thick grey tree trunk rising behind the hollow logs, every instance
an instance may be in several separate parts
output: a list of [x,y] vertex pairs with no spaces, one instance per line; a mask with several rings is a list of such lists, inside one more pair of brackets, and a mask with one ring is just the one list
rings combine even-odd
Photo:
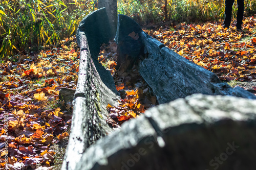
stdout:
[[116,35],[117,27],[117,0],[99,0],[98,8],[106,8],[108,13],[111,28],[111,38]]

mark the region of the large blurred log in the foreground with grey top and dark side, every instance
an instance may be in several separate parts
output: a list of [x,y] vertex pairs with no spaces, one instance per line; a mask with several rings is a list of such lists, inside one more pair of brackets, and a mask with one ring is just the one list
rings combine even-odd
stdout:
[[77,169],[254,169],[256,100],[193,94],[101,138]]

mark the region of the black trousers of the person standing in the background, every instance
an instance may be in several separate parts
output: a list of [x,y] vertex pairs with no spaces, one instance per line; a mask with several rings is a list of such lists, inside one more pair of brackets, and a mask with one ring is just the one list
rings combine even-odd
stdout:
[[[227,28],[229,28],[230,26],[233,4],[234,4],[234,0],[225,1],[224,27],[227,27]],[[243,24],[243,16],[244,16],[244,0],[237,0],[237,4],[238,4],[237,29],[241,29]]]

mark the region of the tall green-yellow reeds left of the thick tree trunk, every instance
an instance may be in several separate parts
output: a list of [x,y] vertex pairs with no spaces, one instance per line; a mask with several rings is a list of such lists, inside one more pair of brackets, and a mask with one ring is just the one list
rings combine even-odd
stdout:
[[81,19],[93,10],[95,1],[1,1],[0,58],[58,44],[75,35]]

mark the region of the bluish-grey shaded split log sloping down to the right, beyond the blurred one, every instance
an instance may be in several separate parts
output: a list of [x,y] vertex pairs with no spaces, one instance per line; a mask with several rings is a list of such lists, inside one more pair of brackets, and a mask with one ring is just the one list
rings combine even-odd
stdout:
[[[222,83],[211,71],[190,62],[165,47],[164,44],[143,32],[138,23],[125,15],[119,15],[118,17],[116,35],[118,54],[125,52],[122,51],[124,49],[122,40],[127,40],[133,32],[138,34],[136,40],[134,40],[135,42],[124,42],[124,47],[129,49],[131,57],[128,58],[133,61],[139,59],[141,47],[144,48],[145,59],[139,65],[140,74],[153,89],[159,104],[185,98],[195,93],[233,95],[256,99],[256,96],[250,92],[240,87],[232,88],[227,83]],[[132,57],[131,54],[135,55]],[[121,56],[120,60],[126,62],[127,58]],[[121,62],[118,61],[117,64]]]

